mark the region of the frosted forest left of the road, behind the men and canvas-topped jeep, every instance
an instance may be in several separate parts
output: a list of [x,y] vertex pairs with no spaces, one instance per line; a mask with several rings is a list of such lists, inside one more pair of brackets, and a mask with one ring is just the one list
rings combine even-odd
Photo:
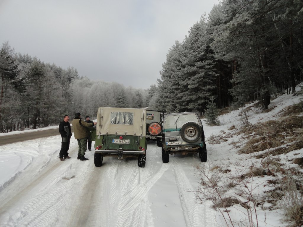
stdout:
[[100,106],[146,107],[150,99],[149,89],[90,81],[73,67],[16,54],[8,42],[0,50],[0,75],[0,132],[56,125],[76,112],[96,116]]

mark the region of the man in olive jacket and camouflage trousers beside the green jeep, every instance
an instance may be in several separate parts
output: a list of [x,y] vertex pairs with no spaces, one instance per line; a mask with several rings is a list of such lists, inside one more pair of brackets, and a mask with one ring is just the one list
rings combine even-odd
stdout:
[[75,139],[78,141],[78,158],[81,161],[88,160],[85,158],[85,151],[86,151],[86,140],[88,137],[88,132],[86,130],[87,127],[93,127],[97,122],[94,123],[87,123],[81,119],[80,113],[75,113],[75,119],[72,120],[72,125],[74,129],[74,136]]

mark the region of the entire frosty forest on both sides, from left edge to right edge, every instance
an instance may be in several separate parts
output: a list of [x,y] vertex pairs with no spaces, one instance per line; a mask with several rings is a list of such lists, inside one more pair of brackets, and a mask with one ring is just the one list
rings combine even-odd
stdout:
[[302,81],[303,2],[223,0],[202,15],[183,42],[169,49],[158,86],[125,88],[90,81],[28,55],[8,42],[0,50],[0,131],[58,124],[99,106],[199,111],[213,98],[218,108],[295,91]]

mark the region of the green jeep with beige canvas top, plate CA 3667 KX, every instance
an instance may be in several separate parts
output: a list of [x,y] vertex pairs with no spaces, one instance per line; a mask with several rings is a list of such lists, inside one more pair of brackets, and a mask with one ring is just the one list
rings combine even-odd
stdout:
[[146,160],[146,110],[99,107],[95,130],[90,128],[95,141],[95,166],[102,166],[103,157],[118,159],[138,157],[138,166]]

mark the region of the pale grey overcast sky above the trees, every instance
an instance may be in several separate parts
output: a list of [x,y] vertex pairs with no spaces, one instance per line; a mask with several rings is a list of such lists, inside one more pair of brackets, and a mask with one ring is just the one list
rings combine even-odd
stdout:
[[0,0],[0,44],[90,80],[157,84],[169,48],[219,0]]

